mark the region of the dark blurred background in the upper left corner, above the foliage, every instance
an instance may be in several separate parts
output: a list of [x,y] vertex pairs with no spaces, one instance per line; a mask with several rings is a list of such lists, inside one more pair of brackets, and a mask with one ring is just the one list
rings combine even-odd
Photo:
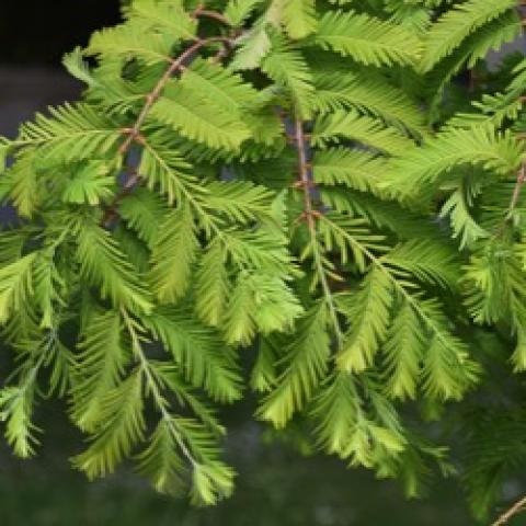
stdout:
[[80,96],[62,56],[121,20],[118,0],[0,0],[0,135],[35,112]]

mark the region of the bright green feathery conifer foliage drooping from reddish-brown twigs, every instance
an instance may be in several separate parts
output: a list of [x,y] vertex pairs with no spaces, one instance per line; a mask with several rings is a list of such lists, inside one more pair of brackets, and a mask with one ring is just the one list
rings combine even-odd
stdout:
[[65,59],[82,101],[0,140],[14,453],[64,398],[90,479],[132,461],[215,504],[217,411],[252,390],[410,496],[458,472],[483,518],[526,460],[526,61],[485,61],[516,0],[123,15]]

